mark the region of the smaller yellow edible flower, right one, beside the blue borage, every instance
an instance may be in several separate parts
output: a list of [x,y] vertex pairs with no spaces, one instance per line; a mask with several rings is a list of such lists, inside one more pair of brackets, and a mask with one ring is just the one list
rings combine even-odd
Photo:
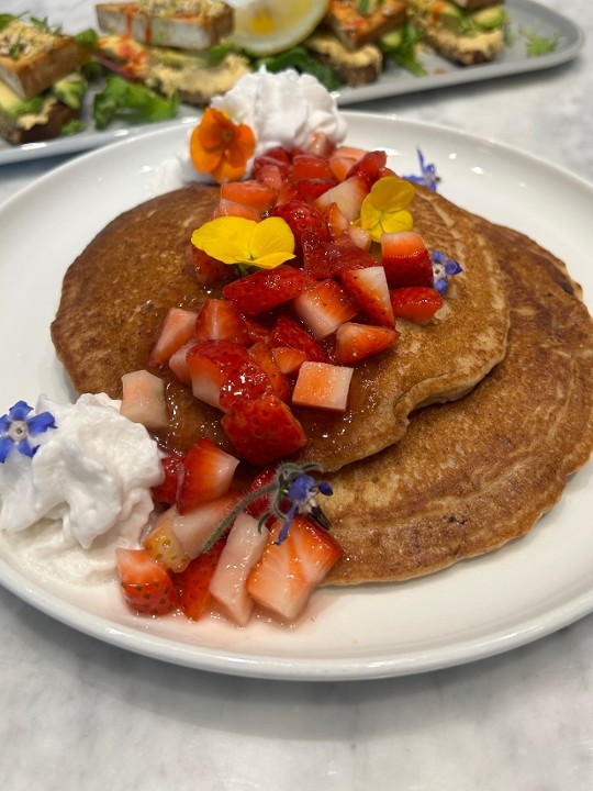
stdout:
[[416,188],[398,176],[385,176],[371,187],[360,208],[360,226],[368,231],[374,242],[384,233],[411,231],[412,202]]

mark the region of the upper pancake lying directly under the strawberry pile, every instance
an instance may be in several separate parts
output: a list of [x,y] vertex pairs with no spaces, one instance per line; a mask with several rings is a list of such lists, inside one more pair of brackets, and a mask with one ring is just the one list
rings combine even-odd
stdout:
[[[217,197],[217,188],[192,186],[149,200],[110,223],[70,266],[52,338],[78,392],[121,397],[122,375],[147,367],[167,310],[197,310],[209,296],[193,277],[190,237]],[[344,414],[294,408],[309,437],[299,461],[336,470],[382,450],[404,435],[414,409],[465,396],[504,356],[506,291],[479,222],[422,189],[412,211],[427,247],[459,260],[463,272],[429,324],[399,322],[398,344],[357,366]],[[172,415],[159,442],[184,452],[209,436],[232,452],[220,412],[168,369],[155,372]]]

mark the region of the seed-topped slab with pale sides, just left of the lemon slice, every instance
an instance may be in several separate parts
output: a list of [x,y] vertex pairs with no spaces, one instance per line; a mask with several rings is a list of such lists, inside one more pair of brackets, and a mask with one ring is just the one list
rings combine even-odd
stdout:
[[105,33],[179,49],[208,49],[234,25],[233,9],[217,0],[99,3],[96,11],[99,27]]

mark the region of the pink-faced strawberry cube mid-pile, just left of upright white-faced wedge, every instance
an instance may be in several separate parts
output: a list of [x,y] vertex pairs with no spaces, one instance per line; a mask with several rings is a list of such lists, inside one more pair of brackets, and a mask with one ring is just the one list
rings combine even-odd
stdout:
[[358,313],[358,305],[335,280],[321,280],[293,302],[299,317],[317,338],[327,337]]

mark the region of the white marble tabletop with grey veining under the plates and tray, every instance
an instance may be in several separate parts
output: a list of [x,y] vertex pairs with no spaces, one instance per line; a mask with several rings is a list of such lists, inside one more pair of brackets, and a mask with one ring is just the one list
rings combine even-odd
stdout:
[[[593,3],[542,4],[584,29],[575,62],[356,109],[470,130],[593,181]],[[87,0],[0,3],[25,10],[72,31],[93,23]],[[0,201],[60,161],[0,167]],[[0,634],[3,791],[593,788],[593,616],[496,658],[355,683],[168,666],[1,589]]]

